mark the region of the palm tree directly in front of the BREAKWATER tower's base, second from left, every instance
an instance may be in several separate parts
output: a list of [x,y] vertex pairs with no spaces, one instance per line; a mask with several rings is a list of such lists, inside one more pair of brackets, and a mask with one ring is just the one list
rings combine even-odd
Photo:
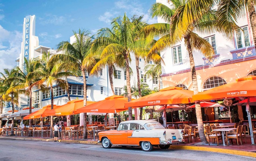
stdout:
[[[20,82],[17,89],[20,90],[20,92],[24,92],[26,95],[29,95],[29,114],[32,112],[32,88],[37,86],[37,84],[34,83],[40,80],[33,71],[38,70],[39,66],[39,61],[35,61],[34,59],[28,61],[27,59],[24,59],[24,70],[16,67],[16,70],[13,73],[15,80]],[[25,91],[22,90],[25,88]],[[31,121],[32,119],[29,119],[29,127],[31,127]]]

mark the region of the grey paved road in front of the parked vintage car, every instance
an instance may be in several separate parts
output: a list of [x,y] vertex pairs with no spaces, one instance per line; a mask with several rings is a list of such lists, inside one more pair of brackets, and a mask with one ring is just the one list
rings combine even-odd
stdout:
[[255,161],[255,158],[193,150],[145,152],[136,148],[101,145],[0,139],[0,161]]

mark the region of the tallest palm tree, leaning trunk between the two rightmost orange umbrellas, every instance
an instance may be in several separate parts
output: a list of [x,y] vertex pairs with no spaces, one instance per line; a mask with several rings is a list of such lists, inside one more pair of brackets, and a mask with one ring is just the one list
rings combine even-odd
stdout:
[[[211,0],[170,0],[171,8],[160,3],[153,4],[151,8],[152,17],[158,16],[167,23],[158,23],[146,26],[144,33],[148,36],[161,37],[149,52],[161,52],[167,47],[171,47],[176,43],[185,40],[185,46],[188,50],[190,69],[192,74],[192,84],[194,94],[198,93],[198,85],[196,79],[196,69],[192,50],[199,50],[205,57],[214,55],[211,44],[201,38],[194,31],[199,33],[221,32],[227,37],[231,37],[233,33],[234,23],[227,22],[228,26],[219,26],[219,19],[216,12],[211,10],[214,1]],[[198,131],[201,142],[205,143],[206,138],[203,129],[202,113],[200,102],[196,101],[196,117]]]

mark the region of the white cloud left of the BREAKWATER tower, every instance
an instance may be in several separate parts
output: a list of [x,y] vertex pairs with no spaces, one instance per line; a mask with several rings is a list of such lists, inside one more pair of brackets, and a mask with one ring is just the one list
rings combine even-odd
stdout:
[[[0,72],[3,72],[4,68],[12,69],[17,65],[15,60],[20,56],[21,41],[22,33],[7,31],[0,25]],[[3,43],[5,43],[4,46]]]

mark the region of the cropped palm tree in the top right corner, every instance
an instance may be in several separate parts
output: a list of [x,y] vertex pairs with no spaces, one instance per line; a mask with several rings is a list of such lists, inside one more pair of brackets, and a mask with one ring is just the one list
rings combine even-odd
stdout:
[[[217,0],[216,0],[217,1]],[[218,1],[217,1],[218,2]],[[238,18],[249,15],[252,27],[254,45],[256,44],[256,1],[255,0],[220,0],[217,15],[220,25],[227,26],[226,22],[237,22]],[[247,13],[245,13],[245,11]],[[255,45],[256,48],[256,45]]]

